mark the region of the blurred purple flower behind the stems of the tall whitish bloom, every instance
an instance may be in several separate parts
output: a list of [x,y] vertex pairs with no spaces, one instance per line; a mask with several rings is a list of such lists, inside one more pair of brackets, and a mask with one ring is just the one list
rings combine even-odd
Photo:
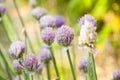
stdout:
[[[90,66],[92,67],[92,61],[90,61]],[[88,67],[87,57],[82,57],[79,61],[78,68],[79,70],[82,70],[84,73],[87,73],[87,67]]]

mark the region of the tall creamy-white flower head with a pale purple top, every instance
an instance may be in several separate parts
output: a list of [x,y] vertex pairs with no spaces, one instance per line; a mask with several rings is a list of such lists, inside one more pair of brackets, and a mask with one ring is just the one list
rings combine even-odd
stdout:
[[85,15],[80,19],[79,45],[94,47],[97,41],[96,20],[91,15]]

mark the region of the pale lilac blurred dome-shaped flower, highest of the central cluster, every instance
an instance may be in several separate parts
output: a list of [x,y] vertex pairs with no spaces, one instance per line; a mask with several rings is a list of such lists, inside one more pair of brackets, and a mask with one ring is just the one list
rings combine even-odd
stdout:
[[39,20],[42,16],[47,14],[46,9],[42,7],[35,7],[31,12],[32,16],[34,16],[37,20]]

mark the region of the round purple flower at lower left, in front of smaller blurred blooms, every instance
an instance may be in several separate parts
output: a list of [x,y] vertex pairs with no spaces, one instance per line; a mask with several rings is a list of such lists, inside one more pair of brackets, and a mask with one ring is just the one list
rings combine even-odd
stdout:
[[23,65],[28,71],[35,71],[38,65],[38,59],[35,54],[27,54],[23,61]]

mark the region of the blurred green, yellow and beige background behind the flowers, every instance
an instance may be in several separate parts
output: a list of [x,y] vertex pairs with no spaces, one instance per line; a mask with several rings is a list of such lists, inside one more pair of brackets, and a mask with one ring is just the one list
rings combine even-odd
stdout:
[[[36,35],[40,38],[39,23],[31,16],[31,8],[28,0],[16,0],[20,14],[25,23],[25,29],[32,41],[33,48],[37,55],[39,55],[40,44]],[[23,28],[20,23],[18,14],[16,12],[13,0],[1,0],[7,7],[7,14],[3,17],[4,26],[0,25],[0,48],[5,53],[5,58],[9,63],[10,68],[12,65],[8,56],[8,48],[10,42],[7,39],[6,32],[2,27],[7,29],[8,35],[12,41],[18,40],[19,37],[24,41]],[[95,54],[96,69],[98,80],[110,80],[112,78],[112,71],[120,67],[120,0],[37,0],[38,6],[44,7],[48,10],[50,15],[60,14],[65,17],[66,24],[70,25],[75,31],[75,55],[76,56],[76,75],[78,80],[82,80],[80,72],[77,69],[79,59],[85,53],[80,52],[78,49],[78,36],[79,27],[78,22],[84,14],[91,14],[97,20],[98,41],[96,46],[98,48]],[[16,32],[18,34],[16,34]],[[42,41],[40,40],[40,43]],[[28,45],[29,46],[29,45]],[[60,68],[61,76],[65,75],[65,79],[70,80],[69,66],[64,65],[67,62],[65,52],[59,51],[59,46],[56,42],[53,44],[55,55],[58,58],[57,64]],[[72,49],[71,49],[72,51]],[[30,51],[30,48],[28,50]],[[61,61],[61,53],[64,58]],[[72,55],[72,54],[71,54]],[[65,73],[62,72],[64,65]],[[6,78],[7,72],[5,71],[4,60],[0,56],[0,77]],[[13,70],[13,69],[12,69]],[[53,77],[55,75],[54,72]],[[43,74],[45,74],[43,72]],[[84,80],[84,79],[83,79]]]

